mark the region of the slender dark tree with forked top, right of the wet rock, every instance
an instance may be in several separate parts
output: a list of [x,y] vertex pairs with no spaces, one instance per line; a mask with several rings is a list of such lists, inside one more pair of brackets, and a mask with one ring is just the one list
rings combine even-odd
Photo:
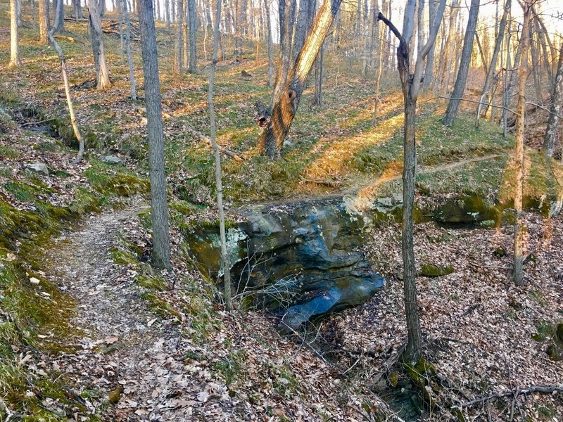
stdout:
[[[442,22],[445,0],[440,0],[436,8],[434,21],[431,22],[428,41],[420,47],[415,60],[415,70],[410,72],[409,45],[414,32],[416,0],[408,0],[405,6],[403,33],[386,19],[380,12],[378,20],[384,22],[399,40],[397,49],[397,63],[403,101],[405,104],[405,124],[403,132],[403,290],[405,295],[405,313],[407,319],[408,343],[405,349],[405,360],[417,361],[422,354],[422,332],[417,304],[417,284],[415,271],[414,248],[414,209],[415,209],[415,179],[417,170],[416,151],[416,111],[417,100],[422,87],[422,74],[425,60],[436,42],[436,36]],[[422,44],[422,39],[419,39]]]

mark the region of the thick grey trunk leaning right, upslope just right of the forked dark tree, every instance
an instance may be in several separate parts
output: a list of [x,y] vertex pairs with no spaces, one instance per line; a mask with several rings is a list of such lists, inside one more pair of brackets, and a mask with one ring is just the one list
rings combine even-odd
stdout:
[[451,126],[457,115],[457,110],[460,109],[460,103],[463,93],[465,91],[465,84],[467,83],[467,72],[469,72],[469,63],[471,62],[471,55],[473,51],[473,40],[475,38],[475,30],[477,27],[477,18],[479,16],[479,0],[472,0],[471,7],[469,8],[469,20],[467,22],[467,30],[465,30],[465,38],[463,41],[462,58],[460,61],[460,68],[457,71],[457,78],[453,88],[452,99],[448,103],[448,108],[445,110],[445,115],[442,118],[443,124]]

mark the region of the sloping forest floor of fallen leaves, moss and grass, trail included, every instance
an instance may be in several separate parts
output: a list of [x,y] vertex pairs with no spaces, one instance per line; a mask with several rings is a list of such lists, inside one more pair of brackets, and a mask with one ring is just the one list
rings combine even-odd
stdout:
[[[3,29],[5,8],[0,5]],[[89,37],[84,22],[66,25],[68,38],[60,42],[87,138],[81,165],[70,162],[76,144],[58,60],[53,49],[37,44],[36,28],[22,28],[18,72],[0,69],[0,418],[362,421],[398,411],[418,395],[404,371],[391,365],[405,342],[395,222],[381,222],[365,235],[365,252],[388,288],[365,305],[311,324],[297,338],[277,333],[272,316],[260,310],[224,312],[215,286],[189,263],[179,228],[216,213],[212,154],[189,132],[208,134],[208,68],[172,76],[172,33],[163,26],[158,37],[175,272],[151,268],[144,103],[127,98],[127,68],[115,35],[104,39],[112,89],[84,88],[94,77]],[[226,50],[231,41],[225,37]],[[9,31],[2,30],[2,63],[8,43]],[[140,81],[140,46],[132,48]],[[230,209],[343,194],[366,203],[400,193],[403,117],[396,77],[384,81],[373,124],[372,81],[356,76],[358,63],[348,68],[348,60],[329,50],[325,63],[324,104],[313,106],[312,89],[305,91],[277,162],[252,153],[259,134],[254,103],[270,99],[267,60],[229,59],[218,66],[219,141],[244,158],[223,161]],[[241,79],[242,70],[250,80]],[[489,122],[476,129],[469,113],[443,127],[443,106],[432,98],[419,106],[417,203],[467,193],[510,200],[512,137],[503,138]],[[526,149],[526,196],[557,198],[563,167],[535,150],[534,136]],[[104,163],[108,154],[122,162]],[[34,162],[44,162],[49,174],[27,169]],[[425,352],[437,371],[426,371],[424,383],[442,385],[432,393],[438,406],[422,406],[424,418],[448,420],[452,404],[492,392],[561,385],[562,364],[545,351],[563,319],[563,219],[537,212],[525,219],[531,255],[521,288],[509,282],[512,227],[417,224],[419,265],[453,268],[445,276],[417,278]],[[405,397],[390,409],[379,396],[390,402]],[[561,395],[529,395],[475,407],[468,416],[558,421],[563,402]]]

